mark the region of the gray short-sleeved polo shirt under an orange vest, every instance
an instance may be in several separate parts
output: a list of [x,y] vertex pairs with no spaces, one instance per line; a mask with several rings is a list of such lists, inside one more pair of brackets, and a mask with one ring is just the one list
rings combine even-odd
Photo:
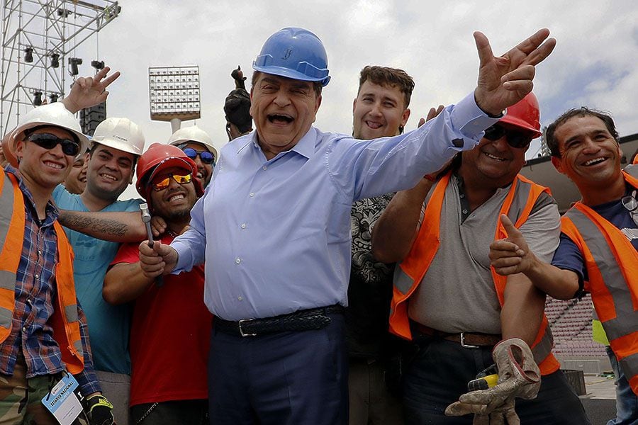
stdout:
[[[501,333],[489,246],[509,190],[510,186],[499,188],[485,203],[469,212],[462,181],[452,176],[442,205],[440,246],[410,297],[410,319],[450,333]],[[539,259],[551,261],[560,235],[560,215],[554,198],[540,196],[520,231]]]

